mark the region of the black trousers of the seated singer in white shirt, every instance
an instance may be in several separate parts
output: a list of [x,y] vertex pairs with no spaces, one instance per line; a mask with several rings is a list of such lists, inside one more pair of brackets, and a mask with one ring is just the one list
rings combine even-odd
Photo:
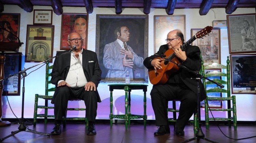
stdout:
[[68,86],[58,87],[54,93],[55,120],[62,120],[62,117],[66,116],[66,108],[70,99],[84,100],[86,106],[85,116],[88,121],[95,122],[98,107],[96,92],[85,91],[84,87],[69,88]]

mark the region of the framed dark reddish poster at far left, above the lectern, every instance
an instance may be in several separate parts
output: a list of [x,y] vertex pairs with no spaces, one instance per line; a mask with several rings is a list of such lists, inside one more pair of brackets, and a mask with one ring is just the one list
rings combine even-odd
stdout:
[[[19,42],[19,27],[20,27],[20,14],[19,13],[0,13],[0,26],[4,29],[0,29],[0,43],[18,43]],[[9,32],[8,32],[9,31]],[[10,33],[11,32],[11,33]],[[1,49],[6,47],[0,44]],[[6,49],[6,51],[9,51]],[[18,51],[18,48],[15,50]]]

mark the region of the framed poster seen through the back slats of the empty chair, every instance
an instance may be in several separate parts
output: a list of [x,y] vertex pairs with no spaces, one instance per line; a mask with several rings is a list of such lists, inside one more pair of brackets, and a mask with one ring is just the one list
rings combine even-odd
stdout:
[[[221,69],[205,69],[204,70],[204,73],[205,74],[208,74],[208,73],[212,73],[212,72],[221,72]],[[213,80],[213,79],[221,79],[221,77],[219,76],[214,76],[214,77],[208,77],[209,79]],[[208,80],[205,79],[205,82],[207,82]],[[217,85],[216,84],[206,84],[206,90],[208,89],[211,89],[211,88],[214,88],[216,87]],[[222,97],[222,93],[219,93],[219,92],[211,92],[211,93],[207,93],[207,96],[208,97]],[[222,108],[223,106],[223,103],[222,101],[214,101],[214,100],[208,100],[208,105],[210,108]],[[201,108],[204,108],[204,100],[201,101]]]

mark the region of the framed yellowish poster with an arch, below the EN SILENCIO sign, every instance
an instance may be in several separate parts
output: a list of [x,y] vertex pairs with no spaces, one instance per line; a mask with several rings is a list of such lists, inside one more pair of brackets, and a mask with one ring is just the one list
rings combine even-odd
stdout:
[[[27,25],[25,62],[42,62],[53,57],[54,25]],[[53,60],[49,60],[51,63]]]

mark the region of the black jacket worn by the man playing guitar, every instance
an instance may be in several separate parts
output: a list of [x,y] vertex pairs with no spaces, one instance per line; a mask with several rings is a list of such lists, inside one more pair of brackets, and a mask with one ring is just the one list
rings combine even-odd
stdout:
[[[161,45],[159,48],[159,51],[157,54],[164,54],[168,50],[168,46],[166,45]],[[199,71],[201,69],[201,58],[200,58],[200,49],[197,46],[191,46],[188,45],[184,51],[186,52],[187,59],[184,62],[181,62],[181,64],[193,71]],[[167,55],[169,56],[169,55]],[[143,62],[146,68],[153,68],[151,65],[151,60],[155,59],[156,56],[152,55],[148,58],[146,58]],[[196,78],[197,76],[194,73],[189,72],[186,69],[180,68],[181,72],[179,73],[182,81],[184,84],[188,86],[189,89],[191,89],[194,93],[197,94],[197,81],[195,79],[191,78]],[[204,100],[206,98],[204,86],[202,84],[202,81],[199,81],[199,87],[200,87],[200,100]]]

